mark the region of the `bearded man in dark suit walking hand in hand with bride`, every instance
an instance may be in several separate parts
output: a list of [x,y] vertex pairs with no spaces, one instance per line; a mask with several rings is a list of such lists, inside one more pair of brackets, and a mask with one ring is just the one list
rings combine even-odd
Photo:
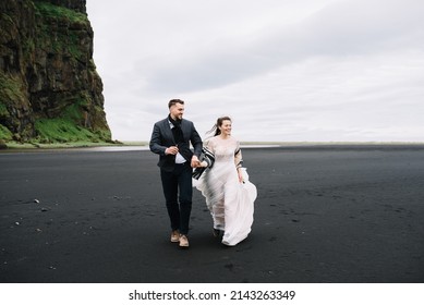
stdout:
[[168,118],[154,125],[149,147],[159,155],[158,167],[171,221],[171,242],[186,248],[193,196],[192,168],[199,167],[202,138],[193,122],[182,118],[183,100],[171,99],[168,108]]

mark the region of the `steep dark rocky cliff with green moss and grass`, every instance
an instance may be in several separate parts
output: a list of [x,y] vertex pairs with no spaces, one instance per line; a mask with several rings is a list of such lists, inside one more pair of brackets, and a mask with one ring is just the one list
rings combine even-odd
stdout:
[[85,1],[0,1],[0,142],[111,139]]

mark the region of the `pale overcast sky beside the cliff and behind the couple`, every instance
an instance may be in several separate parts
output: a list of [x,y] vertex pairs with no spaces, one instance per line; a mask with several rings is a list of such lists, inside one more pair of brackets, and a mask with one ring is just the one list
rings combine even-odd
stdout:
[[201,136],[423,142],[423,0],[87,0],[113,139],[168,101]]

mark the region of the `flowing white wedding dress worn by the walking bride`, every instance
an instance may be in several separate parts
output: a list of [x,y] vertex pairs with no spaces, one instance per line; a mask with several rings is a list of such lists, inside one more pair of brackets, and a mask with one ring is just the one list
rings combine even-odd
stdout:
[[194,186],[206,198],[214,229],[223,231],[222,243],[233,246],[251,232],[256,186],[249,181],[245,168],[244,183],[239,181],[237,167],[241,167],[242,155],[237,139],[215,136],[206,147],[214,152],[215,163],[194,181]]

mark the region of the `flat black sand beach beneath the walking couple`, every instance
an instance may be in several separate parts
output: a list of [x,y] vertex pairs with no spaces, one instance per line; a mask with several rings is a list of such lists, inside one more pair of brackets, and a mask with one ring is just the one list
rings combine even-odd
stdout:
[[221,245],[195,190],[183,251],[150,151],[2,151],[0,282],[424,281],[424,146],[243,157],[258,190],[251,235]]

